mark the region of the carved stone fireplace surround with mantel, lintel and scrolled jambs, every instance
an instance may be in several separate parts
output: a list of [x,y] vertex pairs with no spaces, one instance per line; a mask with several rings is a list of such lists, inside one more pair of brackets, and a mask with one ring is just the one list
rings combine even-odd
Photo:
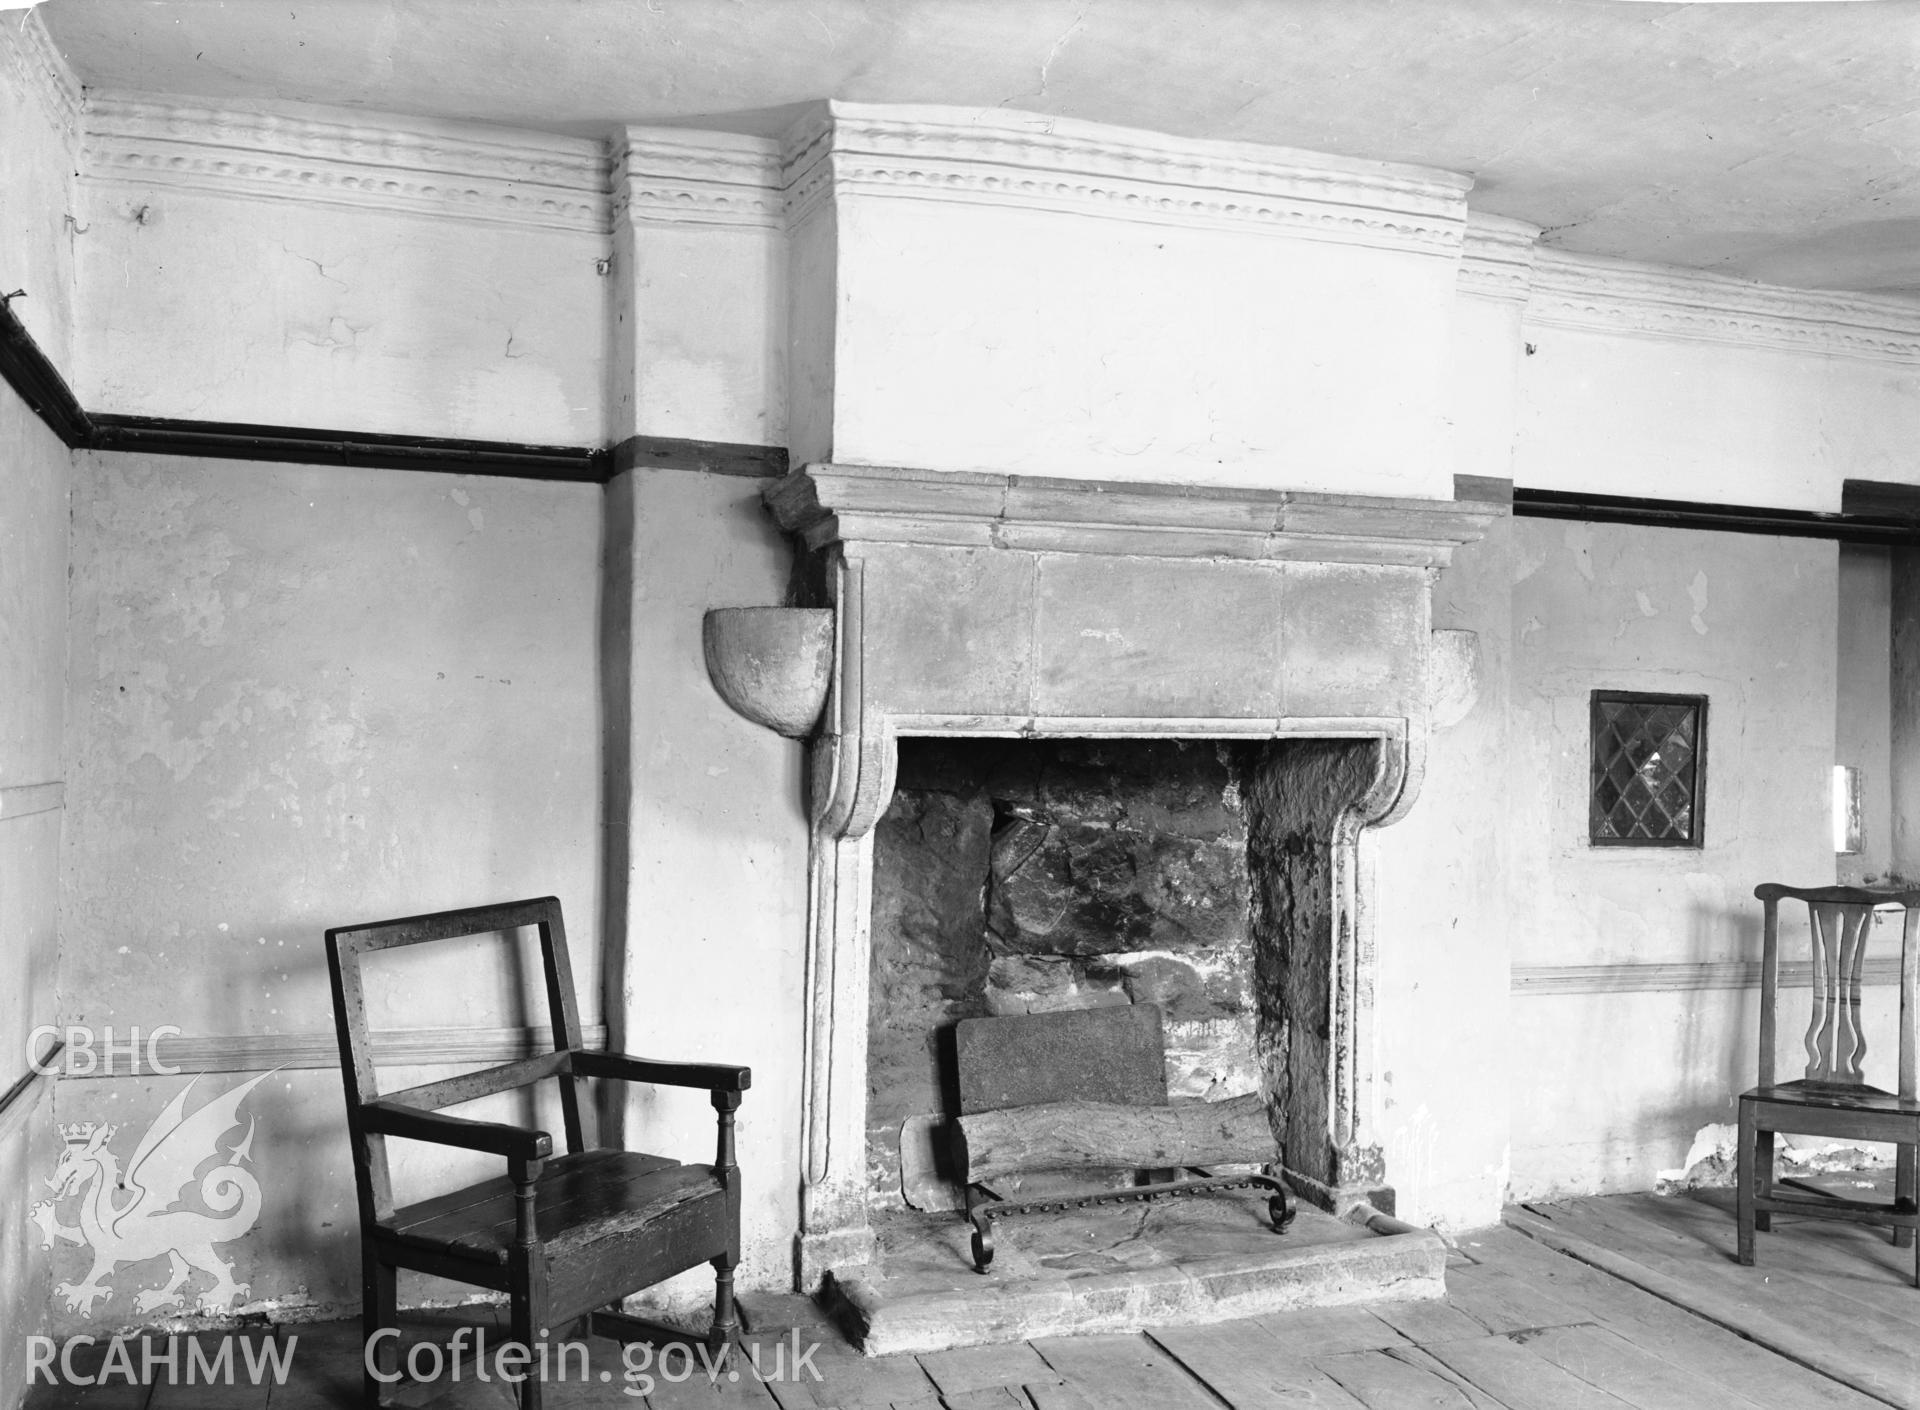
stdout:
[[[1323,943],[1292,966],[1309,1074],[1286,1168],[1331,1212],[1390,1201],[1361,839],[1413,805],[1434,717],[1459,703],[1471,640],[1430,630],[1432,574],[1500,509],[831,463],[766,503],[804,549],[804,605],[833,613],[808,768],[801,1285],[874,1256],[874,824],[900,736],[1371,741],[1323,826]],[[1329,761],[1354,757],[1309,749],[1298,784],[1338,786]]]

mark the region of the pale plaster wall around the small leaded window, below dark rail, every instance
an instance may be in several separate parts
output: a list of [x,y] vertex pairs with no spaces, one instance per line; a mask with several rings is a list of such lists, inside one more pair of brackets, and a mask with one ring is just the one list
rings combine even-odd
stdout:
[[[1511,916],[1517,966],[1759,959],[1759,882],[1836,863],[1837,549],[1519,521],[1513,561]],[[1703,693],[1705,845],[1590,847],[1588,695]],[[1530,893],[1530,895],[1528,895]],[[1784,912],[1788,957],[1803,914]],[[1868,991],[1868,1022],[1891,989]],[[1782,1022],[1793,1032],[1795,1001]],[[1651,1189],[1753,1082],[1757,989],[1571,993],[1511,1005],[1513,1197]],[[1801,1009],[1801,1014],[1805,1010]],[[1805,1022],[1805,1018],[1799,1018]],[[1868,1080],[1889,1060],[1870,1053]]]

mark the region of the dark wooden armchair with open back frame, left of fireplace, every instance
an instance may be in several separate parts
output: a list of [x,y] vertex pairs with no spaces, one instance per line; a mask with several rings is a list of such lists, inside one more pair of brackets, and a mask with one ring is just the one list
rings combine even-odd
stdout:
[[[380,1095],[361,957],[459,936],[513,934],[522,926],[540,928],[553,1051]],[[620,1314],[620,1299],[710,1262],[714,1316],[707,1341],[718,1349],[737,1335],[739,1170],[733,1164],[733,1112],[751,1080],[747,1068],[655,1062],[582,1047],[566,928],[561,903],[551,895],[340,926],[326,932],[326,962],[359,1189],[369,1347],[376,1333],[397,1324],[394,1287],[399,1268],[507,1293],[511,1339],[534,1349],[545,1331],[559,1333],[582,1318],[589,1320],[591,1331],[620,1341],[685,1339],[684,1333]],[[445,1106],[549,1078],[559,1082],[564,1155],[553,1153],[547,1131],[444,1112]],[[707,1089],[720,1124],[714,1162],[687,1166],[636,1151],[591,1149],[580,1120],[588,1078]],[[386,1137],[486,1151],[507,1160],[507,1174],[396,1208]],[[380,1339],[376,1360],[369,1358],[367,1404],[384,1404],[384,1381],[374,1368],[392,1375],[396,1360],[397,1329]],[[520,1410],[540,1410],[540,1379],[528,1374],[520,1383]]]

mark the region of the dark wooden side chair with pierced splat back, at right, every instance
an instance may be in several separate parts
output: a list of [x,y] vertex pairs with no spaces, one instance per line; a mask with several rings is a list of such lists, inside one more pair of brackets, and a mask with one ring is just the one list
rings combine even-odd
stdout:
[[[1920,889],[1880,891],[1851,886],[1753,887],[1766,914],[1761,951],[1761,1083],[1740,1095],[1740,1262],[1753,1264],[1755,1229],[1772,1229],[1774,1214],[1803,1214],[1853,1224],[1885,1224],[1893,1243],[1914,1245],[1920,1229],[1920,1097],[1914,1083],[1914,989],[1920,976]],[[1812,920],[1812,1018],[1807,1024],[1807,1076],[1774,1080],[1774,1026],[1780,999],[1780,903],[1805,901]],[[1901,907],[1901,1047],[1899,1091],[1866,1085],[1860,1030],[1860,972],[1874,914]],[[1891,1141],[1897,1147],[1893,1203],[1774,1193],[1774,1131]],[[1914,1285],[1920,1287],[1920,1249]]]

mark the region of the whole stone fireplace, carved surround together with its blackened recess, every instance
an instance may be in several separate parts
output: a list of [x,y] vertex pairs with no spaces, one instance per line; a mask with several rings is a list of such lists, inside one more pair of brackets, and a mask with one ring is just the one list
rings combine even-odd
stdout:
[[1298,1195],[1390,1203],[1363,838],[1469,688],[1430,576],[1496,509],[858,465],[766,498],[831,628],[803,1283],[874,1258],[941,1033],[996,1005],[1160,1003],[1175,1095],[1260,1089]]

